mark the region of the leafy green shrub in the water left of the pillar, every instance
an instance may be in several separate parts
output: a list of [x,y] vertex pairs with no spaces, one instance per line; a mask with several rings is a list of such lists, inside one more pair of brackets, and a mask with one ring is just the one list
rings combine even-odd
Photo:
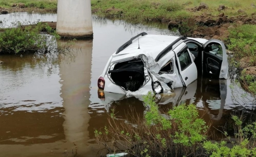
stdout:
[[[20,25],[20,23],[17,22],[17,25]],[[42,29],[48,34],[40,34]],[[20,26],[6,29],[0,34],[0,54],[48,51],[56,46],[54,41],[59,38],[50,26],[42,23],[27,26],[24,29]]]

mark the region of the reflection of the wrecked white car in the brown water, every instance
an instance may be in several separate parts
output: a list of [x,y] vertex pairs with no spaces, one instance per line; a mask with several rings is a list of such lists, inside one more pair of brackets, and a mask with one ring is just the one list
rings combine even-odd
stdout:
[[[164,111],[166,112],[174,106],[195,104],[199,115],[203,117],[206,123],[212,123],[214,128],[225,124],[221,119],[226,96],[227,80],[198,77],[188,87],[175,88],[172,93],[157,94],[155,102],[159,105],[162,115],[164,115]],[[143,117],[143,114],[149,109],[144,104],[142,96],[127,97],[126,95],[99,90],[98,97],[104,104],[108,105],[106,107],[108,108],[107,110],[115,107],[117,118],[123,119],[128,123],[131,123],[130,118],[132,118],[127,116],[129,111],[136,111],[139,117]]]

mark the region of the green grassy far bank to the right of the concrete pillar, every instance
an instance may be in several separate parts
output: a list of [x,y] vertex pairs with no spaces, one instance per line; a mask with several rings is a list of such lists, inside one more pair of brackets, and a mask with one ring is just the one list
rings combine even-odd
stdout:
[[[191,2],[191,3],[189,3]],[[209,9],[190,12],[187,9],[194,8],[204,2]],[[201,15],[202,12],[218,15],[219,5],[225,5],[228,9],[221,12],[228,16],[236,16],[238,9],[243,9],[247,14],[255,10],[251,7],[251,0],[91,0],[92,9],[98,9],[99,16],[115,17],[128,20],[130,22],[150,22],[159,21],[163,18],[167,20],[184,20],[190,17]],[[107,9],[115,7],[122,11],[106,12]]]

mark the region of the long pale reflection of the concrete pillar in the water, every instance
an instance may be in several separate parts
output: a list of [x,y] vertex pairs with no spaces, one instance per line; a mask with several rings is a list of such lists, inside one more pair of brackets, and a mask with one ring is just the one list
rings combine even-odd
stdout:
[[87,128],[93,40],[78,40],[73,46],[74,52],[60,56],[60,96],[65,108],[63,128],[67,142],[74,144],[73,153],[84,154],[89,139]]

